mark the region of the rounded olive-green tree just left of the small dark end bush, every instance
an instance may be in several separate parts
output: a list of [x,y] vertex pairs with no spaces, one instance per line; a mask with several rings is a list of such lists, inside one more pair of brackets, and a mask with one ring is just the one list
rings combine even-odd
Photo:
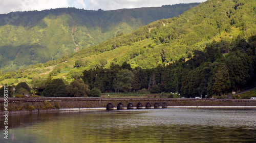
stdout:
[[84,84],[81,79],[76,79],[68,85],[67,91],[72,97],[86,97],[90,90],[89,85]]

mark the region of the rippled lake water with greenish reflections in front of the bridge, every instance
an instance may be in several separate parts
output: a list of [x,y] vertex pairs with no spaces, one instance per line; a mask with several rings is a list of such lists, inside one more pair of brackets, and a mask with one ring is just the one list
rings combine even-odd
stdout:
[[256,110],[141,109],[9,115],[0,142],[255,142]]

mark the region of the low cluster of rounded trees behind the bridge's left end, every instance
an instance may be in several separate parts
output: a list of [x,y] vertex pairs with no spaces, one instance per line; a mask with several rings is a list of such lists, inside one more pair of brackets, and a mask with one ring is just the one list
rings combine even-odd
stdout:
[[[13,88],[15,88],[15,97],[26,97],[29,95],[36,97],[42,95],[45,97],[100,97],[100,90],[94,88],[89,89],[87,84],[81,79],[73,80],[70,84],[65,83],[65,79],[52,79],[49,74],[47,79],[37,78],[31,81],[32,87],[26,82],[19,82],[17,85],[8,85],[8,96],[13,96]],[[6,84],[7,85],[7,84]],[[4,86],[0,88],[0,94],[4,95]]]

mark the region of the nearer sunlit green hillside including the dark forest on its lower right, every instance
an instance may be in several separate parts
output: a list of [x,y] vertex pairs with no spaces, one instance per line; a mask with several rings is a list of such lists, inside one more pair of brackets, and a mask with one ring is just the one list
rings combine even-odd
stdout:
[[[189,97],[238,91],[256,77],[255,16],[254,1],[207,1],[178,17],[152,22],[70,56],[5,73],[2,84],[32,81],[32,87],[40,87],[50,73],[67,84],[83,78],[103,92],[116,90],[118,80],[110,75],[128,67],[139,83],[136,89],[138,84],[133,83],[134,90],[150,89],[155,74],[162,91]],[[144,76],[136,77],[139,73]]]

